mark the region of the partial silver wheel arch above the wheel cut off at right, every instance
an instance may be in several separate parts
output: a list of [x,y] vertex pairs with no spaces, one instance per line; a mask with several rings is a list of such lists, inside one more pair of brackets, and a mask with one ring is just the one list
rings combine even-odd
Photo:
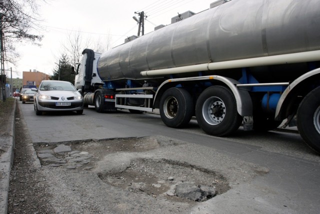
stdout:
[[320,85],[320,68],[313,69],[294,79],[282,92],[276,105],[274,118],[281,120],[297,110],[301,100],[295,97],[304,97],[307,93]]

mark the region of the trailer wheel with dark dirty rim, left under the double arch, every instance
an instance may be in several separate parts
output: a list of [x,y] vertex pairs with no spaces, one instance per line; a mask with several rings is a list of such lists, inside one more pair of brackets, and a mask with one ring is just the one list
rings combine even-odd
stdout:
[[182,127],[192,117],[192,97],[183,88],[171,87],[161,96],[159,111],[164,124],[173,128]]

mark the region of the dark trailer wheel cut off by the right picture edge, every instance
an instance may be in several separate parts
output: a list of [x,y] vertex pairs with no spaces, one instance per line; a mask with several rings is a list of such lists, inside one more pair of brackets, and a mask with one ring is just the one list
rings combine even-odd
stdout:
[[297,128],[308,146],[320,153],[320,86],[309,92],[297,110]]

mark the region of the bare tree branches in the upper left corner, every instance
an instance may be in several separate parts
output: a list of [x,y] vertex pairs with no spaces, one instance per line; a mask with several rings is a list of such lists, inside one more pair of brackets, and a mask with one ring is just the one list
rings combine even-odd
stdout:
[[[45,0],[43,0],[45,1]],[[14,64],[19,57],[15,45],[21,41],[40,45],[42,35],[36,34],[38,0],[0,0],[0,30],[3,38],[4,61]]]

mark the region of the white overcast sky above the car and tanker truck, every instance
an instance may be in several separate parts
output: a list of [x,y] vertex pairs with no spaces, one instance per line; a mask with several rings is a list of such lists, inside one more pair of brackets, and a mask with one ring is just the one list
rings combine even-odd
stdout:
[[[138,25],[133,20],[135,11],[147,15],[144,34],[155,25],[170,24],[171,17],[185,11],[200,12],[208,9],[215,0],[49,0],[41,2],[41,25],[46,29],[41,47],[21,45],[20,60],[12,66],[12,77],[22,78],[22,71],[38,70],[52,74],[55,63],[62,54],[62,44],[67,35],[80,31],[81,37],[91,40],[111,38],[111,47],[124,42],[127,36],[137,34]],[[137,15],[136,15],[137,16]],[[90,48],[90,47],[89,47]],[[7,73],[10,77],[9,73]]]

